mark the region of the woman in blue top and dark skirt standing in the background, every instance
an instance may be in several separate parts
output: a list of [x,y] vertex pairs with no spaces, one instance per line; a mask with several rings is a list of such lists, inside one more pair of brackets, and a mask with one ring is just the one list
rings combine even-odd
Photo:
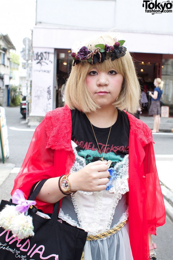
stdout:
[[160,99],[162,97],[163,93],[163,84],[164,82],[160,78],[156,78],[154,80],[154,93],[152,94],[151,91],[149,91],[148,95],[151,96],[151,105],[149,108],[149,116],[153,115],[154,117],[154,127],[152,132],[153,133],[159,133],[159,126],[160,126],[160,114],[161,114],[161,105],[160,105]]

